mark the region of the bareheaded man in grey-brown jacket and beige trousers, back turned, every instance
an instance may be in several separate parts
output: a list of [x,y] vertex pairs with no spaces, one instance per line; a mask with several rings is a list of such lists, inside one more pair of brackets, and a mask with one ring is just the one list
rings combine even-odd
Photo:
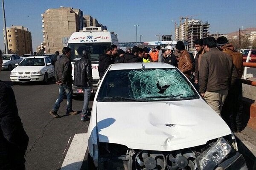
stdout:
[[237,78],[236,68],[229,55],[219,51],[214,37],[204,39],[206,51],[200,63],[200,93],[210,107],[219,115],[230,85]]

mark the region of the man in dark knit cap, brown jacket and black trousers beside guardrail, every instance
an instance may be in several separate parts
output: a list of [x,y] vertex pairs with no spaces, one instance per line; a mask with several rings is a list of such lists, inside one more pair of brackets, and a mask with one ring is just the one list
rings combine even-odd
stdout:
[[234,51],[233,45],[228,43],[227,38],[224,36],[218,37],[217,47],[220,51],[231,57],[238,74],[235,84],[232,85],[228,91],[227,98],[221,111],[221,116],[233,132],[240,132],[242,130],[241,114],[243,112],[241,82],[241,77],[244,71],[243,57],[241,53]]

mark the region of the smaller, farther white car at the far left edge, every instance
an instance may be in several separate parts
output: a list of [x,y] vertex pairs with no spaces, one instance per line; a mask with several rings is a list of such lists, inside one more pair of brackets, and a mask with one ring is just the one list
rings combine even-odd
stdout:
[[3,64],[2,68],[7,70],[12,70],[12,68],[15,68],[23,59],[17,56],[16,54],[3,54]]

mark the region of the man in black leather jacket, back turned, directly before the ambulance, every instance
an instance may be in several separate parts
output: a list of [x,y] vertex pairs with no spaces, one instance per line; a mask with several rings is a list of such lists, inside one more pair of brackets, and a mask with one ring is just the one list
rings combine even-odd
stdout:
[[84,91],[84,105],[81,113],[81,121],[90,120],[88,117],[88,105],[90,94],[93,88],[92,64],[90,61],[90,51],[83,50],[82,58],[74,65],[74,85],[82,87]]

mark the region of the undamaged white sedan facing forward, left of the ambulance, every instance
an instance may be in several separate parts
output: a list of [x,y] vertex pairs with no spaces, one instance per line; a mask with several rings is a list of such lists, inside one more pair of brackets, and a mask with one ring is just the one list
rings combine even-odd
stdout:
[[54,77],[54,68],[50,57],[47,56],[26,57],[10,75],[14,84],[34,81],[46,83],[51,77]]

